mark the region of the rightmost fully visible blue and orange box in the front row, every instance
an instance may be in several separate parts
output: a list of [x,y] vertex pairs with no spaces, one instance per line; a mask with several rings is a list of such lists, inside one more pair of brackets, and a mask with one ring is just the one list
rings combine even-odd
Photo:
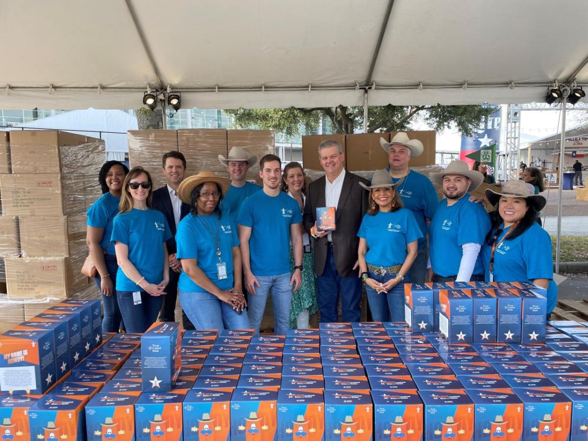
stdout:
[[572,402],[557,387],[513,389],[524,405],[523,441],[567,440]]

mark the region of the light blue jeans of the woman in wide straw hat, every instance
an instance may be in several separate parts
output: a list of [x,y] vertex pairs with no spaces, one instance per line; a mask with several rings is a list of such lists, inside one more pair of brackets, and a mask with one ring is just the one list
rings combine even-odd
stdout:
[[250,329],[247,311],[235,312],[209,292],[178,290],[180,305],[196,329]]

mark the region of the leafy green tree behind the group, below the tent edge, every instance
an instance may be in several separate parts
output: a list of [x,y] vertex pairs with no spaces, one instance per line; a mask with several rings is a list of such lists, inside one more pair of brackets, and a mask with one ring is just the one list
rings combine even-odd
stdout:
[[[368,132],[405,131],[419,119],[436,131],[455,125],[460,132],[472,135],[476,128],[496,111],[493,106],[463,105],[443,106],[370,106],[368,108]],[[327,117],[335,133],[363,131],[363,107],[343,106],[286,109],[228,109],[240,128],[258,127],[275,130],[286,136],[310,133]]]

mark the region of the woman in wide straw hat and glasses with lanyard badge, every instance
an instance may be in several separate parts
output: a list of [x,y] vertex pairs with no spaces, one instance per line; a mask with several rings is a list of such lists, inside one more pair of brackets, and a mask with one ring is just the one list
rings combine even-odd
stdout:
[[191,211],[176,233],[177,258],[182,264],[178,293],[196,329],[250,328],[241,286],[238,230],[222,209],[229,186],[227,179],[213,172],[200,172],[178,189]]

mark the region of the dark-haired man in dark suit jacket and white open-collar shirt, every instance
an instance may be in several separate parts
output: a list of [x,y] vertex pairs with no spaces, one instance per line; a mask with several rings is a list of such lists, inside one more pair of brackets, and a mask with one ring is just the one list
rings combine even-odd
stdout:
[[[166,243],[169,253],[169,283],[165,288],[166,295],[159,311],[160,322],[175,322],[176,299],[178,298],[178,279],[182,266],[176,259],[176,228],[180,220],[190,212],[190,206],[178,198],[178,187],[186,174],[186,158],[180,152],[168,152],[163,155],[163,176],[167,182],[165,186],[153,192],[152,208],[163,213],[168,220],[172,238]],[[182,312],[184,329],[194,329],[194,326]]]

